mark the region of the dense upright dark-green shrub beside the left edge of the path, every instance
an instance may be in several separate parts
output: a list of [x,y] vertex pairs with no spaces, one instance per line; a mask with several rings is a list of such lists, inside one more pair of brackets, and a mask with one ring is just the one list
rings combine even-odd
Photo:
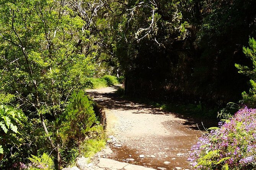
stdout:
[[92,130],[96,121],[92,103],[82,90],[72,94],[65,112],[57,119],[58,135],[64,144],[72,140],[79,147]]

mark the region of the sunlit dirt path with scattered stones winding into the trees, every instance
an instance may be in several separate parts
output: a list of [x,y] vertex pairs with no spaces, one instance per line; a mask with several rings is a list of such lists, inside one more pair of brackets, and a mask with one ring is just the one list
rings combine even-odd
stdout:
[[131,159],[131,164],[155,169],[190,168],[186,161],[190,148],[202,135],[196,124],[177,114],[121,99],[114,94],[116,88],[87,91],[117,118],[115,143],[109,144],[114,153],[109,157],[123,162]]

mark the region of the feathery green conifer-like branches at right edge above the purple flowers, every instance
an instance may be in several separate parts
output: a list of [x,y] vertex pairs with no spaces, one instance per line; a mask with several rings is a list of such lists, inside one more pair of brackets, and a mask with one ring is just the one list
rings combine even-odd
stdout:
[[236,68],[239,70],[239,73],[244,74],[251,79],[249,82],[251,85],[249,93],[244,91],[242,96],[245,104],[250,107],[256,107],[256,40],[254,40],[254,38],[249,38],[249,47],[243,47],[243,53],[245,53],[245,55],[251,59],[253,68],[235,64]]

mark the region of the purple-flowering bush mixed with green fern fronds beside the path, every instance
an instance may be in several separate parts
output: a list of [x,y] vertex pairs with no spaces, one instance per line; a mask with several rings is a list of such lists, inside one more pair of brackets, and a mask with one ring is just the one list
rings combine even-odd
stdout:
[[219,125],[192,146],[192,166],[198,170],[255,169],[256,109],[240,109]]

